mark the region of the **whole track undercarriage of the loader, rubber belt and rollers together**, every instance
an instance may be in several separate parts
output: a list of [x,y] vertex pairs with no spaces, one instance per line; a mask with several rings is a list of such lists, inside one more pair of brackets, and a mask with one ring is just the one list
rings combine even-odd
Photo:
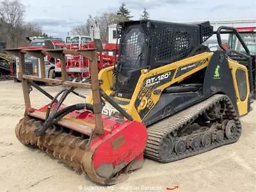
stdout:
[[241,123],[228,97],[214,95],[147,130],[145,156],[169,163],[236,142]]

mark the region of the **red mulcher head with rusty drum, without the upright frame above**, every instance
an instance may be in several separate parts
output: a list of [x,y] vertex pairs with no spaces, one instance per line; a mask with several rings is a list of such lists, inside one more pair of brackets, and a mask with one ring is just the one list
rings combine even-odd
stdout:
[[[93,134],[92,112],[73,111],[36,136],[36,129],[45,122],[47,107],[28,109],[17,125],[17,138],[24,145],[45,150],[99,184],[116,184],[127,179],[127,172],[142,167],[147,130],[140,122],[102,116],[104,133],[99,135]],[[62,105],[59,111],[65,108]]]

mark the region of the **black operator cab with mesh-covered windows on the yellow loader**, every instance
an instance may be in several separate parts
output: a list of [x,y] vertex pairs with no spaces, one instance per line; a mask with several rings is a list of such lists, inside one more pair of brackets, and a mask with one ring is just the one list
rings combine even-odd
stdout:
[[212,34],[209,22],[179,24],[135,20],[120,23],[116,95],[131,99],[141,69],[154,69],[182,60]]

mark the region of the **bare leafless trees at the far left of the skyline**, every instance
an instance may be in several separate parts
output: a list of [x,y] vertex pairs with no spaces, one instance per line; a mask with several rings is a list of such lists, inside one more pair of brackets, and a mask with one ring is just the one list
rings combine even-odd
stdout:
[[34,22],[25,22],[24,4],[19,0],[4,0],[0,3],[0,41],[7,47],[28,45],[26,36],[48,36],[42,27]]

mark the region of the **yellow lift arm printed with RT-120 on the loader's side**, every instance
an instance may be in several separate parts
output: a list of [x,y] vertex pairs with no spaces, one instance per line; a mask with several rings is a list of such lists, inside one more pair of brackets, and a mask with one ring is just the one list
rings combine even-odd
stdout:
[[143,121],[156,106],[165,88],[207,67],[212,52],[204,52],[196,56],[155,68],[144,74],[138,81],[127,112],[134,120]]

